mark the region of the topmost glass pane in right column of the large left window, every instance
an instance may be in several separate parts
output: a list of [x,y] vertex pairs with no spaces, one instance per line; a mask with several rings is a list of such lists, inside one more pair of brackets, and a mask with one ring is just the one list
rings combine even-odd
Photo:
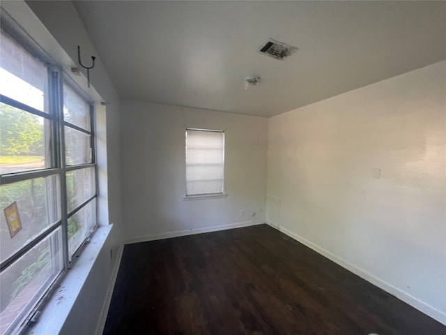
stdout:
[[68,85],[63,85],[63,119],[90,131],[90,105]]

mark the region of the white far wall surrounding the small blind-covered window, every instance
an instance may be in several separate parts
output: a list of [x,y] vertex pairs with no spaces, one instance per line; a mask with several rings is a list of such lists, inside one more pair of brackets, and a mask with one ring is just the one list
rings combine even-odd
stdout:
[[[265,222],[268,119],[134,101],[121,102],[121,111],[128,239]],[[225,131],[227,198],[183,200],[186,127]]]

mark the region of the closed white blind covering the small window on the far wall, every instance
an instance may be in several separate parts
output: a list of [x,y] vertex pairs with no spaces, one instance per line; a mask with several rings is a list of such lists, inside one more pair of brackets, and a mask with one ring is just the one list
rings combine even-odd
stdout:
[[186,195],[223,192],[224,132],[186,129]]

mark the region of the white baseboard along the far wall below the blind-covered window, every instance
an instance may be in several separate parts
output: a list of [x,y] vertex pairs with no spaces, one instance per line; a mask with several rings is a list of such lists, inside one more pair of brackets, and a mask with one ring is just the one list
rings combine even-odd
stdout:
[[234,228],[248,227],[249,225],[261,225],[265,220],[243,221],[238,223],[229,223],[228,225],[211,225],[210,227],[192,228],[187,230],[177,230],[175,232],[161,232],[159,234],[148,234],[139,237],[132,237],[124,241],[124,244],[155,241],[157,239],[171,239],[172,237],[201,234],[203,232],[217,232],[219,230],[228,230]]

